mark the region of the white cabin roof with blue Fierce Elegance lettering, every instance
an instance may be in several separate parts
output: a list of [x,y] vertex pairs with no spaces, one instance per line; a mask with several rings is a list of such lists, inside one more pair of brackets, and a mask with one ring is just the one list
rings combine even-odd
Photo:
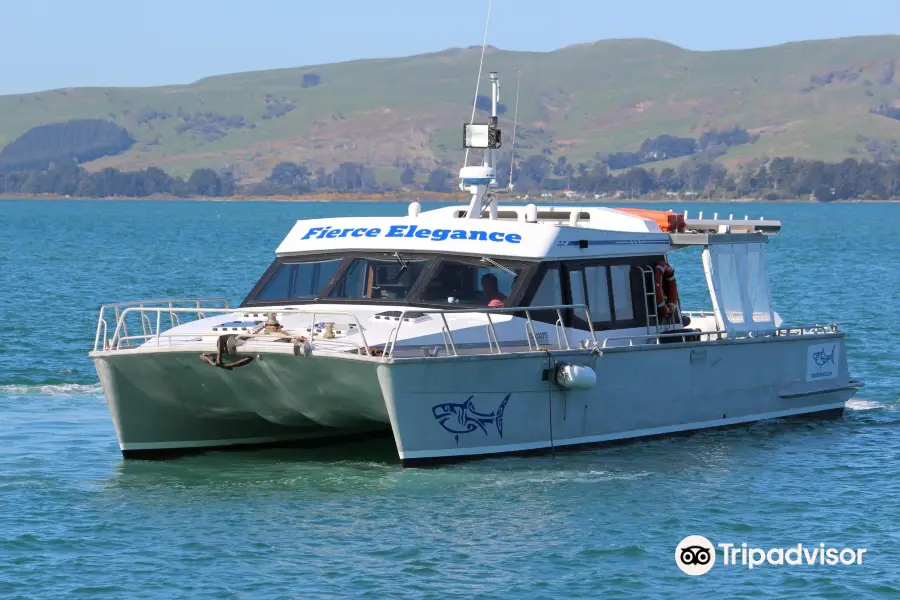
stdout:
[[[524,259],[658,255],[672,249],[652,220],[611,208],[538,207],[526,222],[525,206],[499,208],[496,220],[467,219],[455,206],[406,217],[338,217],[297,221],[279,256],[346,252],[436,252]],[[576,213],[577,219],[573,219]]]

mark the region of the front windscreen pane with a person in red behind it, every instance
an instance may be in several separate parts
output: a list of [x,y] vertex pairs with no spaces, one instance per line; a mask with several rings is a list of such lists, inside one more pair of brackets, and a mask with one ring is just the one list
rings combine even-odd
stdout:
[[[512,271],[510,273],[509,271]],[[442,261],[419,294],[423,302],[502,308],[521,269]]]

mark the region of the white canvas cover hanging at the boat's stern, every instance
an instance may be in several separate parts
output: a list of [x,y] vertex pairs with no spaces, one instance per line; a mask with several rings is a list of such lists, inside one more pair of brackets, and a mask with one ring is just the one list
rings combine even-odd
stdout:
[[764,244],[707,246],[703,270],[719,329],[736,334],[775,330]]

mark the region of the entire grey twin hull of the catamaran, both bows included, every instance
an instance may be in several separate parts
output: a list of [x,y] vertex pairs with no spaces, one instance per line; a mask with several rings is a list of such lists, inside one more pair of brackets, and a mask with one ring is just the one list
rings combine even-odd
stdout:
[[[815,378],[810,356],[826,345],[839,348],[832,350],[838,358],[826,377]],[[125,456],[392,430],[401,462],[412,466],[764,419],[834,417],[856,390],[842,334],[601,353],[382,359],[286,350],[254,358],[225,370],[188,349],[94,353]],[[590,367],[597,385],[561,388],[548,380],[559,363]]]

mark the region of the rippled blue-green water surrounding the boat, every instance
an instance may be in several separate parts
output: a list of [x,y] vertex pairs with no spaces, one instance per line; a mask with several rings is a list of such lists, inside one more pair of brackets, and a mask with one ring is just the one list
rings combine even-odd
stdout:
[[[687,208],[784,220],[777,310],[840,322],[868,384],[842,420],[403,470],[390,440],[126,463],[87,352],[102,302],[239,302],[294,220],[404,205],[0,202],[0,597],[900,594],[900,205]],[[689,534],[868,552],[689,578]]]

